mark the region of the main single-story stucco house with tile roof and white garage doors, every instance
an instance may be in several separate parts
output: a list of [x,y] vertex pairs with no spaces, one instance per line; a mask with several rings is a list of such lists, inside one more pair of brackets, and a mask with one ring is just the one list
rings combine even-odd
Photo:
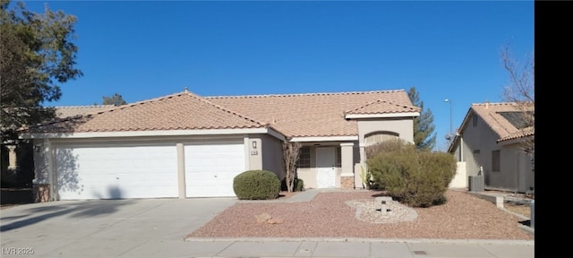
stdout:
[[188,90],[25,130],[52,200],[235,196],[250,169],[285,176],[282,142],[302,142],[306,188],[362,188],[364,147],[413,142],[405,90],[201,97]]

